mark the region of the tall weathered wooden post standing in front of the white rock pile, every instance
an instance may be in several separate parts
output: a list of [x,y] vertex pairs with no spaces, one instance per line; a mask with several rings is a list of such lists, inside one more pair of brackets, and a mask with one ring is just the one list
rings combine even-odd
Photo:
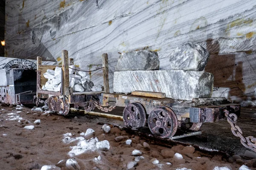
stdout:
[[68,69],[68,52],[67,50],[62,50],[61,52],[61,57],[62,57],[62,71],[63,71],[63,82],[62,82],[62,87],[63,87],[63,95],[64,96],[69,96],[70,91],[69,91],[69,69]]

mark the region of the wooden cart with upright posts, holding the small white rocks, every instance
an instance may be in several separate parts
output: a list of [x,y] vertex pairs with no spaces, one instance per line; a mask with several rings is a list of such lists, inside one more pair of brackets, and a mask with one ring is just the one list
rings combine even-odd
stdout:
[[37,57],[37,105],[45,102],[49,110],[61,115],[67,115],[70,108],[84,109],[87,112],[93,111],[95,102],[99,100],[101,93],[109,93],[108,84],[108,55],[103,54],[103,78],[104,91],[73,92],[69,82],[69,65],[73,65],[73,59],[68,59],[68,52],[62,51],[61,89],[60,91],[42,90],[42,86],[48,79],[44,78],[47,69],[55,70],[56,65],[42,65],[41,57]]

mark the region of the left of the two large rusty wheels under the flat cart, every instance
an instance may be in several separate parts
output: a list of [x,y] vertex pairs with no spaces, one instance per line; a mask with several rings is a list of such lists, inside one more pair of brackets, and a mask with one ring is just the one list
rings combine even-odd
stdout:
[[145,126],[146,111],[140,103],[128,104],[123,111],[123,120],[126,127],[139,130]]

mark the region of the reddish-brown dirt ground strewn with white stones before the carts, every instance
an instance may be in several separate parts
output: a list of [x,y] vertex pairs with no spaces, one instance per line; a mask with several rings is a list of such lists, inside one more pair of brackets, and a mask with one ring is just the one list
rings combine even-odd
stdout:
[[[37,119],[41,120],[40,125],[33,124]],[[117,127],[111,127],[111,132],[105,134],[102,123],[122,125],[121,121],[96,116],[71,114],[64,117],[44,111],[31,111],[31,108],[16,110],[16,107],[0,106],[0,170],[37,170],[72,157],[76,158],[81,170],[126,170],[131,164],[131,170],[236,170],[243,164],[256,170],[256,159],[242,157],[241,161],[235,161],[237,158],[202,153],[194,151],[194,147],[180,144],[172,147],[154,145]],[[24,126],[28,125],[34,125],[35,128],[25,129]],[[88,128],[95,130],[95,137],[99,141],[108,140],[110,149],[102,151],[92,148],[70,157],[68,153],[79,143],[76,137]],[[69,142],[65,142],[66,133],[71,133]],[[117,136],[123,136],[123,139],[116,142]],[[131,145],[126,144],[127,139],[132,140]],[[147,142],[150,147],[144,148],[143,142]],[[136,156],[131,155],[133,150],[140,150],[144,159],[134,161]],[[180,153],[183,159],[178,159],[175,153]],[[101,156],[100,160],[96,159],[98,156]],[[230,159],[234,162],[230,163]],[[65,164],[58,166],[61,170],[68,170]]]

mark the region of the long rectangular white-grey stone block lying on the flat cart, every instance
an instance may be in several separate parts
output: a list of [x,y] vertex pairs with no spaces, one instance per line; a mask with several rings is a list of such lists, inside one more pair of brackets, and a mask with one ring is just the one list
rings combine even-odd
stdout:
[[168,98],[180,100],[210,97],[212,88],[213,75],[203,71],[116,71],[113,80],[113,90],[116,93],[151,91],[165,93]]

